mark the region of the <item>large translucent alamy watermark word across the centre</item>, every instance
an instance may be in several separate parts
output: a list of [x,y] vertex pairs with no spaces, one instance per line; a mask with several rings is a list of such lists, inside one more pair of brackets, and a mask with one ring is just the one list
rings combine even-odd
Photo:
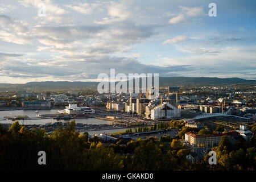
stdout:
[[97,86],[98,93],[148,93],[152,99],[158,98],[159,95],[159,73],[154,73],[154,86],[152,73],[115,75],[115,69],[110,69],[110,77],[106,73],[100,73],[97,78],[102,80]]

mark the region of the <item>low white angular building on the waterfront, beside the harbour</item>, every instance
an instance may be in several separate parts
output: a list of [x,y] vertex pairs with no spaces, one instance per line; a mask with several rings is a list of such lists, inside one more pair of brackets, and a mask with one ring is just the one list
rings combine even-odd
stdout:
[[77,107],[76,104],[69,104],[66,109],[61,110],[60,113],[67,114],[94,114],[95,110],[90,107]]

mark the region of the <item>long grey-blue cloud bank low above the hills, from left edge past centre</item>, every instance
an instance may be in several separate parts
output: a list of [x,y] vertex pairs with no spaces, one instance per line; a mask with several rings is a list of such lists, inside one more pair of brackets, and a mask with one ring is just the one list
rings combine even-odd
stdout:
[[[70,61],[71,57],[72,61]],[[65,59],[69,61],[65,61]],[[1,65],[1,75],[20,78],[52,77],[72,81],[85,78],[95,79],[99,73],[108,74],[112,68],[115,68],[116,73],[160,73],[160,75],[192,69],[189,65],[175,65],[174,67],[147,65],[133,58],[115,56],[94,56],[84,58],[84,61],[78,61],[75,56],[66,55],[57,63],[55,60],[47,60],[49,64],[44,65],[40,62],[39,60],[32,60],[29,63],[23,60],[11,60]]]

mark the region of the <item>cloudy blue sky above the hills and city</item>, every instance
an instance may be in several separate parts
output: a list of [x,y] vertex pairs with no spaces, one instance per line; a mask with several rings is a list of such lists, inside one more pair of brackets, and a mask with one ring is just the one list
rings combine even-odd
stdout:
[[110,69],[256,80],[256,1],[0,1],[0,83],[96,81]]

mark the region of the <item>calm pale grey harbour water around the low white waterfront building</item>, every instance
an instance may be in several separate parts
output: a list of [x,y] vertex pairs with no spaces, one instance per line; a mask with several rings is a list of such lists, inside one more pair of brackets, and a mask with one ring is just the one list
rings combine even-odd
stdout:
[[[14,123],[12,120],[3,120],[3,117],[5,116],[15,116],[15,115],[27,115],[30,118],[35,118],[36,110],[6,110],[6,111],[0,111],[0,123]],[[51,110],[38,110],[38,114],[56,114],[58,113],[57,109],[51,109]],[[65,123],[71,120],[63,120],[61,119],[61,122]],[[55,123],[59,122],[56,119],[48,118],[48,119],[28,119],[28,120],[19,120],[20,125],[45,125],[46,123]],[[83,124],[91,124],[91,125],[110,125],[111,122],[101,120],[101,119],[95,119],[95,118],[76,118],[76,123],[83,123]]]

